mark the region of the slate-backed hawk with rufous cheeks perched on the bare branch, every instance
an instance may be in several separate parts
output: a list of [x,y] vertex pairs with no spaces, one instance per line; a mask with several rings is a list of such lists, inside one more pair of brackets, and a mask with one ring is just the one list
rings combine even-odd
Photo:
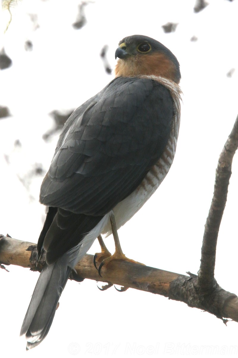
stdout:
[[[27,349],[49,332],[70,271],[101,233],[113,233],[112,259],[127,260],[117,236],[172,164],[180,122],[179,63],[158,41],[120,41],[113,79],[69,117],[40,190],[49,207],[37,244],[46,263],[26,312]],[[106,255],[107,256],[107,255]]]

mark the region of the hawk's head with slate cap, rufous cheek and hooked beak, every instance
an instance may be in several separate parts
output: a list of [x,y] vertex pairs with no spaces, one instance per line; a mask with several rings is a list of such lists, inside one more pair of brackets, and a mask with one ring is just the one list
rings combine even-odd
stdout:
[[153,75],[179,83],[181,74],[174,54],[151,37],[133,35],[122,39],[116,49],[119,58],[115,68],[116,77]]

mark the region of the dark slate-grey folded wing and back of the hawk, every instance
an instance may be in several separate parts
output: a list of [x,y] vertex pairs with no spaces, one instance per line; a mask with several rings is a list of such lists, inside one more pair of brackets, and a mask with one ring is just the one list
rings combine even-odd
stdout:
[[66,122],[40,201],[103,216],[159,159],[173,118],[171,95],[145,78],[116,78]]

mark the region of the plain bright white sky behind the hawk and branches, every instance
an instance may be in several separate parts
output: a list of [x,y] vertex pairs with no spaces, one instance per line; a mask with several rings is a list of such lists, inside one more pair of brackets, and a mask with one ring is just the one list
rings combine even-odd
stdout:
[[[108,60],[114,66],[119,40],[143,34],[166,45],[181,64],[181,129],[167,178],[119,237],[128,257],[181,274],[197,273],[218,157],[238,111],[238,2],[209,3],[194,14],[191,0],[96,0],[86,7],[87,24],[81,30],[71,26],[78,1],[23,0],[12,9],[12,23],[0,38],[0,48],[4,45],[13,62],[0,71],[0,105],[12,113],[0,120],[1,233],[37,242],[44,222],[38,203],[42,176],[27,179],[29,190],[19,178],[26,179],[36,163],[49,167],[58,134],[47,144],[42,140],[53,126],[48,113],[79,106],[111,81],[99,56],[103,45],[109,45]],[[38,16],[35,31],[28,14]],[[6,16],[1,14],[1,29]],[[178,23],[176,32],[163,33],[161,25],[168,21]],[[198,40],[191,42],[192,36]],[[32,41],[32,52],[25,51],[26,40]],[[236,71],[228,78],[231,68]],[[19,149],[14,148],[17,139]],[[216,279],[237,294],[237,155],[232,171]],[[113,251],[111,237],[106,244]],[[95,242],[90,253],[97,251]],[[39,274],[8,269],[10,273],[0,270],[0,353],[21,358],[26,353],[19,332]],[[162,296],[132,289],[101,292],[90,280],[68,282],[47,338],[27,357],[46,352],[65,358],[234,356],[237,332],[237,323],[226,327],[208,313]]]

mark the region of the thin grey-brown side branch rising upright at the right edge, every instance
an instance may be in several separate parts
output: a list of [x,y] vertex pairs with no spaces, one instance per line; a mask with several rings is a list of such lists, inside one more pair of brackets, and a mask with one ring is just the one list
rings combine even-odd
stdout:
[[212,204],[208,213],[202,243],[201,265],[198,274],[200,289],[212,289],[214,281],[214,269],[216,260],[216,247],[219,227],[227,201],[229,179],[233,156],[238,147],[238,116],[231,134],[220,154],[216,169],[216,178]]

